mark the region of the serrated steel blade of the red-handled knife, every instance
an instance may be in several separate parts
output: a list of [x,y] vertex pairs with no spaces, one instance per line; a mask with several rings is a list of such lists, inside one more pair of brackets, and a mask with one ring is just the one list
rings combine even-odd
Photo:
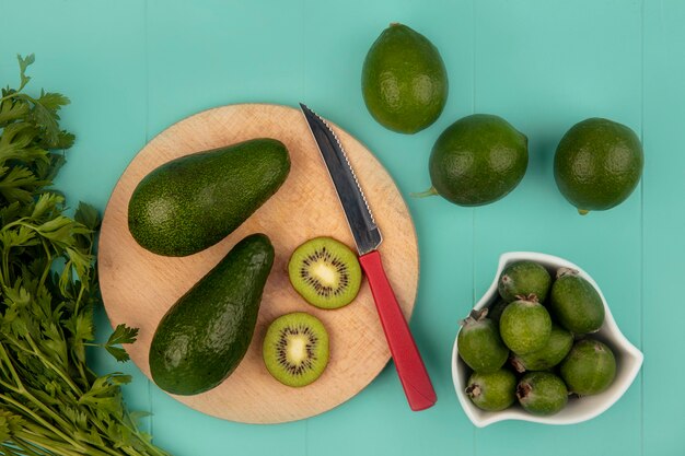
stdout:
[[326,120],[302,103],[300,107],[326,163],[359,255],[375,250],[383,237],[342,144]]

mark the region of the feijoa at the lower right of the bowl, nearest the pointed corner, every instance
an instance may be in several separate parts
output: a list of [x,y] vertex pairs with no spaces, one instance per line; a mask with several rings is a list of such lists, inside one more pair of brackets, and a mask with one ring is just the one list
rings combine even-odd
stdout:
[[599,340],[583,339],[576,342],[559,372],[571,393],[596,395],[614,382],[616,358],[612,349]]

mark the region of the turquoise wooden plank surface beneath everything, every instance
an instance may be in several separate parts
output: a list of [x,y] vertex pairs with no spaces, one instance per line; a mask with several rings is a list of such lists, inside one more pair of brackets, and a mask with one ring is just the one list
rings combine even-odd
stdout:
[[[176,455],[684,455],[685,2],[678,0],[0,0],[0,84],[14,55],[35,52],[33,89],[69,95],[78,136],[58,185],[72,204],[104,210],[136,152],[170,124],[243,102],[303,101],[357,136],[403,195],[429,186],[427,160],[444,127],[498,114],[530,138],[522,184],[491,206],[466,209],[407,198],[421,255],[411,329],[439,402],[413,413],[392,365],[335,410],[281,425],[202,416],[128,364],[131,408]],[[365,51],[390,22],[440,49],[450,97],[415,136],[390,132],[360,93]],[[642,138],[642,182],[622,206],[577,215],[556,189],[554,149],[576,121],[605,116]],[[602,287],[624,334],[645,352],[631,388],[589,422],[502,422],[475,429],[450,376],[457,320],[492,279],[502,252],[566,257]],[[123,284],[125,285],[125,284]],[[98,316],[101,337],[108,332]]]

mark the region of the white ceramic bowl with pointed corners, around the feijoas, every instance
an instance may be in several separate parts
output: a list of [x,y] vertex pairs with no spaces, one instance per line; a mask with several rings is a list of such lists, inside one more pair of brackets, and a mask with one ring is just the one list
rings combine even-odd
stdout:
[[606,300],[600,287],[597,287],[585,271],[562,258],[533,252],[511,252],[503,254],[499,259],[499,266],[492,284],[475,305],[475,309],[487,307],[497,300],[497,281],[502,270],[508,264],[523,259],[536,261],[545,266],[549,272],[553,273],[553,277],[558,268],[566,267],[576,269],[580,272],[580,277],[588,280],[597,290],[604,303],[605,317],[602,328],[593,334],[592,337],[609,346],[614,352],[616,356],[616,378],[604,393],[594,396],[585,396],[580,399],[569,398],[568,405],[561,411],[549,417],[531,414],[523,410],[518,404],[502,411],[485,411],[477,408],[464,391],[471,370],[458,356],[456,339],[454,339],[454,349],[452,350],[452,379],[454,381],[454,389],[456,390],[456,396],[458,397],[462,408],[471,421],[478,428],[484,428],[503,420],[522,420],[547,424],[573,424],[590,420],[608,409],[623,396],[642,365],[642,352],[632,346],[620,332],[618,326],[616,326],[616,321],[614,321],[612,312],[606,304]]

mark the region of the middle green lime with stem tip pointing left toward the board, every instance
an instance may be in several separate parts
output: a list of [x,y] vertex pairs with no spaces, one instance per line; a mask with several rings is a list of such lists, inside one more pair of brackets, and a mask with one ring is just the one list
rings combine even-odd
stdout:
[[429,161],[433,186],[416,196],[440,195],[460,206],[487,204],[519,185],[527,163],[523,133],[501,117],[474,114],[440,135]]

